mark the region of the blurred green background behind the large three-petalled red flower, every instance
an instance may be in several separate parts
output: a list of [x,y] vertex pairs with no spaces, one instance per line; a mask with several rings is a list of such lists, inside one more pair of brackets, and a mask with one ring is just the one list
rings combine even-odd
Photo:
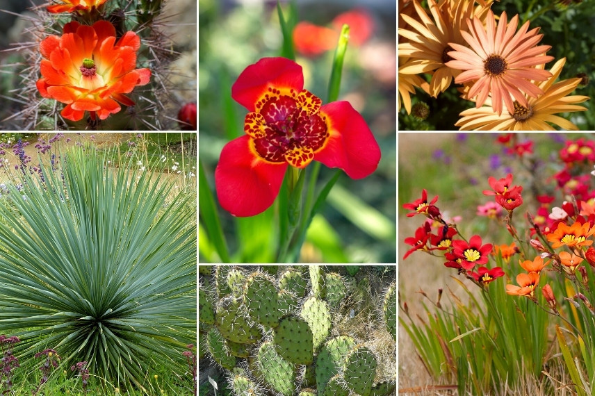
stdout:
[[[247,113],[231,99],[231,85],[247,65],[267,56],[279,56],[281,52],[283,38],[276,6],[276,1],[199,0],[199,158],[213,194],[213,174],[221,149],[243,134]],[[285,17],[293,18],[294,24],[308,21],[330,26],[334,17],[354,8],[364,9],[372,17],[373,33],[360,46],[352,42],[348,45],[339,100],[350,101],[364,116],[380,145],[382,159],[376,172],[366,179],[354,181],[341,175],[329,195],[323,217],[317,217],[311,226],[302,249],[302,261],[396,261],[396,3],[391,0],[282,2]],[[296,61],[304,71],[304,88],[323,99],[323,103],[328,102],[333,55],[334,49],[318,56],[296,52]],[[323,166],[318,178],[320,185],[332,174],[332,170]],[[234,219],[221,208],[219,215],[229,251],[233,254],[243,250],[232,259],[244,262],[270,259],[262,251],[270,248],[272,217],[263,216],[266,235],[259,234],[261,242],[257,242],[251,220]],[[251,238],[243,238],[245,228]],[[203,256],[204,251],[199,251],[199,260],[213,259]]]

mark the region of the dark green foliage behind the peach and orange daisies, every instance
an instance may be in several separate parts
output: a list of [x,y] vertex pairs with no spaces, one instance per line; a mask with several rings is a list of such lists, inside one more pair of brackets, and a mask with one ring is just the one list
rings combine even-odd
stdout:
[[[560,3],[569,2],[570,6]],[[423,1],[427,9],[427,1]],[[561,117],[569,119],[578,126],[581,131],[592,131],[595,129],[595,113],[591,111],[593,98],[595,97],[595,35],[592,26],[595,26],[595,1],[541,1],[541,0],[501,0],[495,2],[491,7],[494,15],[500,15],[503,11],[509,20],[519,14],[519,28],[525,21],[530,20],[529,28],[539,27],[539,33],[544,37],[539,45],[550,45],[552,48],[548,55],[555,60],[546,64],[550,69],[556,60],[567,58],[564,69],[558,81],[572,79],[580,73],[585,73],[589,82],[580,86],[572,94],[585,95],[592,99],[582,103],[587,111],[577,113],[562,113]],[[429,77],[429,76],[428,76]],[[430,78],[427,78],[430,81]],[[430,106],[430,116],[424,121],[407,115],[405,108],[401,108],[398,117],[399,131],[455,131],[458,128],[455,123],[459,120],[459,113],[475,106],[473,102],[459,97],[457,85],[451,84],[446,92],[439,94],[437,98],[430,97],[421,89],[416,90],[415,97],[411,97],[411,103],[419,101]]]

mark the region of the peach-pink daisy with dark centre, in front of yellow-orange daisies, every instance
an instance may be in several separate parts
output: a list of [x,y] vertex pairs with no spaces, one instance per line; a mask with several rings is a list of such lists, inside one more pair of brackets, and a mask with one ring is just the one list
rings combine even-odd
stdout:
[[541,88],[528,80],[548,79],[551,73],[535,69],[535,66],[553,60],[553,56],[545,55],[550,46],[535,47],[543,37],[537,34],[539,28],[528,31],[529,22],[526,22],[515,34],[519,15],[515,15],[510,24],[507,20],[506,13],[503,12],[496,28],[491,10],[488,12],[485,28],[477,17],[473,21],[467,19],[471,33],[461,34],[471,49],[450,43],[455,51],[448,52],[448,55],[455,60],[446,63],[453,69],[464,70],[455,78],[455,83],[475,82],[468,97],[477,97],[476,107],[482,106],[491,93],[494,110],[498,115],[502,114],[503,103],[507,108],[514,108],[513,97],[526,108],[528,103],[523,92],[530,97],[543,94]]

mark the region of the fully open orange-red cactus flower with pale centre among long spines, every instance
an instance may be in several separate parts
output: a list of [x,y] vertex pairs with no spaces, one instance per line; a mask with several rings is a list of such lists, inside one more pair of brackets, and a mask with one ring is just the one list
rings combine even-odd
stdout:
[[85,26],[70,22],[61,37],[50,35],[40,43],[44,59],[42,78],[37,88],[42,97],[56,99],[67,106],[62,116],[72,121],[89,111],[91,119],[106,119],[121,110],[116,101],[134,104],[124,96],[136,85],[149,83],[149,69],[135,69],[140,39],[125,33],[115,42],[115,28],[106,21]]

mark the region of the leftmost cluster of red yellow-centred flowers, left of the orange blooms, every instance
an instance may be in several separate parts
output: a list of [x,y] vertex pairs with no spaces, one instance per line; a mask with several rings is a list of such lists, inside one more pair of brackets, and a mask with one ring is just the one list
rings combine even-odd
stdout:
[[[449,224],[443,219],[440,209],[435,205],[438,197],[427,201],[427,191],[422,191],[421,199],[404,204],[403,208],[414,212],[407,216],[423,214],[427,220],[419,227],[414,237],[405,238],[405,243],[411,245],[403,259],[407,258],[414,251],[425,251],[433,256],[437,251],[443,251],[444,265],[455,268],[459,274],[465,274],[468,279],[475,281],[479,286],[487,286],[499,277],[503,277],[504,271],[501,267],[488,269],[489,254],[494,247],[490,243],[484,244],[478,235],[471,239],[464,240],[459,235],[456,224]],[[459,236],[462,239],[454,239]]]

